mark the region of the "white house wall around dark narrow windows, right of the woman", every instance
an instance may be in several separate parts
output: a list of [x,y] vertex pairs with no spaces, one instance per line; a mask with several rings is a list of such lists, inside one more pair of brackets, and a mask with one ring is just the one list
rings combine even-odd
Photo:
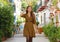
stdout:
[[41,16],[42,16],[42,24],[44,24],[44,13],[46,13],[46,23],[49,23],[50,19],[50,11],[48,9],[46,9],[45,11],[39,12],[39,17],[38,17],[38,21],[41,24]]

